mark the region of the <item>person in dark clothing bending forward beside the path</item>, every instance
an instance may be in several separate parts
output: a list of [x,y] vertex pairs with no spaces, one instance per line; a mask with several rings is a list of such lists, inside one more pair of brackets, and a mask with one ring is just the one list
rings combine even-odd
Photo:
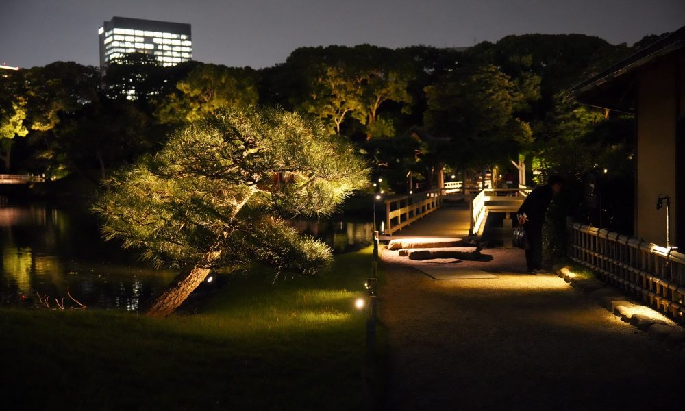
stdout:
[[547,207],[553,195],[561,190],[563,182],[561,177],[553,175],[547,184],[537,186],[532,190],[516,213],[519,215],[519,224],[523,224],[528,240],[528,249],[525,250],[528,273],[547,272],[543,270],[543,223],[545,223]]

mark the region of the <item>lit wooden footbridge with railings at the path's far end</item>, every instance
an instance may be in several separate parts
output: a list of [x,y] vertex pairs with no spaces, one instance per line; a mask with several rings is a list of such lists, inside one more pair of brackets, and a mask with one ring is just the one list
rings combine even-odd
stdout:
[[[386,238],[481,236],[490,212],[506,213],[505,225],[511,227],[509,214],[519,210],[530,190],[527,186],[477,189],[451,182],[436,190],[392,197],[385,200],[382,231]],[[424,219],[429,214],[434,215]]]

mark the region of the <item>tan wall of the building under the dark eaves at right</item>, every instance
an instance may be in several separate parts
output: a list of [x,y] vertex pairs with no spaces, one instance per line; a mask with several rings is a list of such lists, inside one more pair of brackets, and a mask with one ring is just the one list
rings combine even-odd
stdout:
[[637,93],[637,190],[635,234],[645,241],[666,246],[666,208],[656,210],[660,194],[671,196],[671,241],[679,221],[676,193],[677,59],[671,58],[638,73]]

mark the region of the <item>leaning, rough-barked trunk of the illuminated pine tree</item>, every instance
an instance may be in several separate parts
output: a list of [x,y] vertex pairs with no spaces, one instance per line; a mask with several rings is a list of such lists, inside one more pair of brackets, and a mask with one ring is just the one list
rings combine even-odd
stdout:
[[197,288],[207,278],[211,269],[206,268],[206,264],[211,260],[219,258],[221,251],[212,251],[206,256],[201,264],[190,267],[182,271],[173,280],[171,285],[145,304],[142,312],[148,316],[165,317],[173,313],[181,304],[186,301],[191,292]]

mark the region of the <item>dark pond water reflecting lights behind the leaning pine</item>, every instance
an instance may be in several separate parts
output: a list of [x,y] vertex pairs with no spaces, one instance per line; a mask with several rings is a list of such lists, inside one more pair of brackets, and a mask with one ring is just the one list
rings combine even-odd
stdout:
[[[371,242],[371,223],[289,220],[301,232],[321,238],[334,252]],[[34,307],[47,296],[75,306],[136,310],[176,275],[153,269],[100,238],[97,220],[84,208],[32,203],[0,207],[0,306]]]

